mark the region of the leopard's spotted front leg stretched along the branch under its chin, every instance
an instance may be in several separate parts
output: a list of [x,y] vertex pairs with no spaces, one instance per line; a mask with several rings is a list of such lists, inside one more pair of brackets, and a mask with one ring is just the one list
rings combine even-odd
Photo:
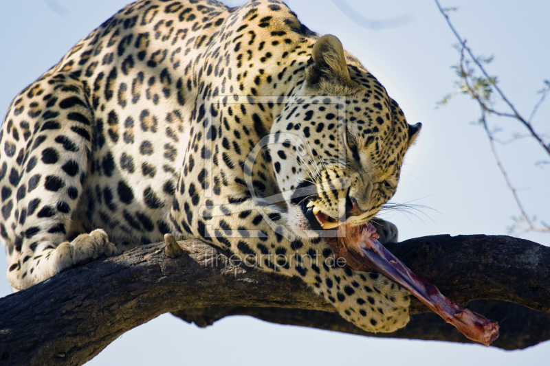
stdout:
[[297,238],[286,214],[254,201],[214,205],[206,201],[193,217],[187,202],[172,209],[182,232],[230,250],[236,258],[261,271],[296,276],[324,296],[351,321],[369,332],[393,332],[408,322],[409,294],[376,273],[339,266],[333,251],[319,238]]

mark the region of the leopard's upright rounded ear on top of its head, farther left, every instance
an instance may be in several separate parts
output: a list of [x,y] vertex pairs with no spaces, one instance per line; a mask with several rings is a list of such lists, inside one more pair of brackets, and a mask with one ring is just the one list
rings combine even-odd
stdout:
[[317,40],[305,70],[307,87],[316,87],[322,79],[351,83],[344,47],[336,36],[327,34]]

